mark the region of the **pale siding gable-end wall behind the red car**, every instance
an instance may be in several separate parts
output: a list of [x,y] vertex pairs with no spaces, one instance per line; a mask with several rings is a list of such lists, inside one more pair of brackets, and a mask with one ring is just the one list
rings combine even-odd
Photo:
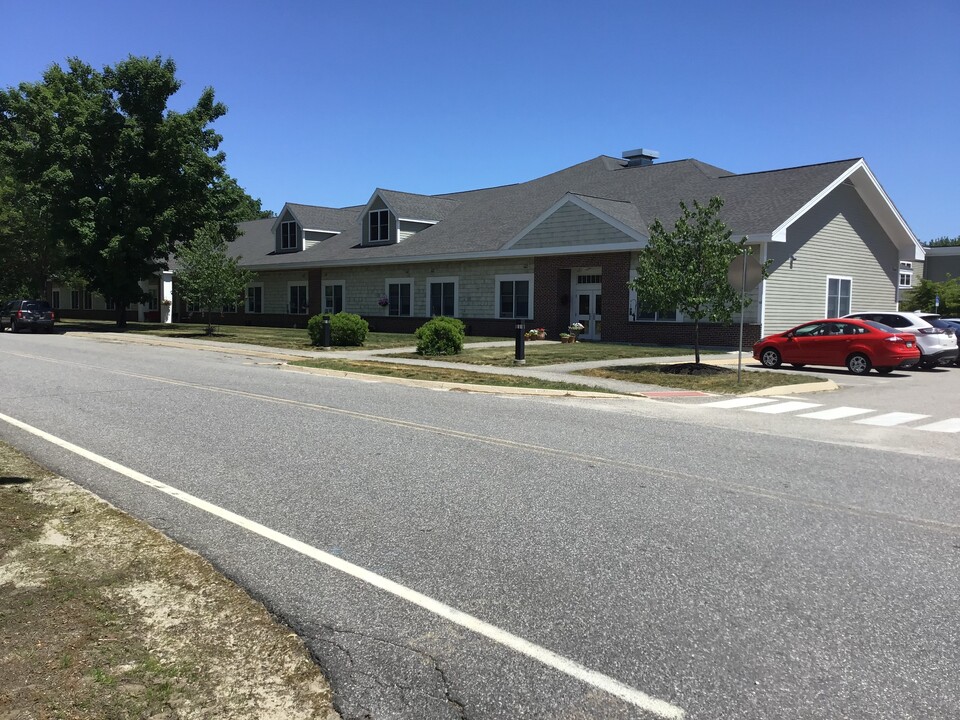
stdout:
[[899,252],[853,188],[830,193],[767,257],[764,333],[824,317],[828,277],[852,279],[851,312],[896,309]]

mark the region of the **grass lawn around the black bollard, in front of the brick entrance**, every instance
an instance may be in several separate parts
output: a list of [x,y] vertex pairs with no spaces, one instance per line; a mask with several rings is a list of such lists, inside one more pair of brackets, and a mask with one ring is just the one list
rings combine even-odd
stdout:
[[[504,338],[500,338],[503,340]],[[477,342],[467,338],[467,342]],[[701,350],[701,355],[715,354],[719,351]],[[467,348],[459,355],[435,358],[446,362],[461,362],[467,365],[494,365],[510,367],[513,365],[515,348]],[[560,363],[588,362],[591,360],[616,360],[619,358],[676,357],[692,355],[689,347],[661,347],[659,345],[618,345],[612,343],[579,342],[569,345],[560,343],[528,342],[524,346],[524,360],[527,367],[538,365],[557,365]],[[397,353],[391,357],[424,359],[416,353]],[[430,358],[427,358],[430,359]]]

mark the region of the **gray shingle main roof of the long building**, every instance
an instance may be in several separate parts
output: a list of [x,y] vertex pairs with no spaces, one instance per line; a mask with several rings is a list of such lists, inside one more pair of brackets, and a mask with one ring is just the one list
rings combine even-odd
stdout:
[[627,167],[618,158],[600,156],[555,173],[515,185],[415,195],[379,191],[400,216],[437,220],[437,224],[395,245],[361,247],[363,206],[325,208],[292,205],[308,229],[340,234],[298,253],[274,253],[274,220],[243,223],[231,254],[252,267],[322,266],[403,262],[426,257],[484,256],[496,253],[567,193],[584,197],[603,212],[641,234],[659,218],[672,227],[680,201],[706,203],[724,199],[722,219],[734,236],[769,233],[857,162],[843,160],[769,172],[735,175],[698,160],[678,160]]

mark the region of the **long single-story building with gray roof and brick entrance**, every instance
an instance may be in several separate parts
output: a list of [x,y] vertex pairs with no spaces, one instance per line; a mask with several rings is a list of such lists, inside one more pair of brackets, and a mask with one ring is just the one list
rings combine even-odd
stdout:
[[[474,335],[512,337],[522,320],[555,338],[581,322],[584,339],[688,343],[692,323],[639,307],[628,283],[654,219],[672,228],[681,201],[714,196],[733,238],[770,261],[744,314],[747,345],[810,319],[896,309],[922,275],[923,248],[863,159],[736,174],[658,157],[627,151],[441,195],[378,188],[346,208],[287,203],[276,218],[241,225],[230,252],[256,280],[220,322],[304,327],[343,310],[378,331],[447,315]],[[168,273],[147,289],[151,304],[131,317],[187,319]],[[63,292],[71,314],[100,310]],[[738,331],[739,318],[701,325],[701,342],[735,345]]]

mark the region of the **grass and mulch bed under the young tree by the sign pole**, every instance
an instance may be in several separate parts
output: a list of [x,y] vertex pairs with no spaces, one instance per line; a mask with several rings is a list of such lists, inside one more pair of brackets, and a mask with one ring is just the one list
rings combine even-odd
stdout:
[[[706,361],[709,363],[709,359]],[[735,367],[719,367],[712,374],[684,375],[664,372],[664,365],[621,365],[615,368],[595,368],[576,373],[588,377],[605,377],[614,380],[643,383],[646,385],[662,385],[664,387],[681,390],[701,390],[731,395],[766,390],[780,385],[800,385],[810,382],[822,382],[824,378],[810,375],[793,375],[790,373],[772,373],[765,370],[744,370],[740,373],[740,383],[737,383],[737,369]]]

